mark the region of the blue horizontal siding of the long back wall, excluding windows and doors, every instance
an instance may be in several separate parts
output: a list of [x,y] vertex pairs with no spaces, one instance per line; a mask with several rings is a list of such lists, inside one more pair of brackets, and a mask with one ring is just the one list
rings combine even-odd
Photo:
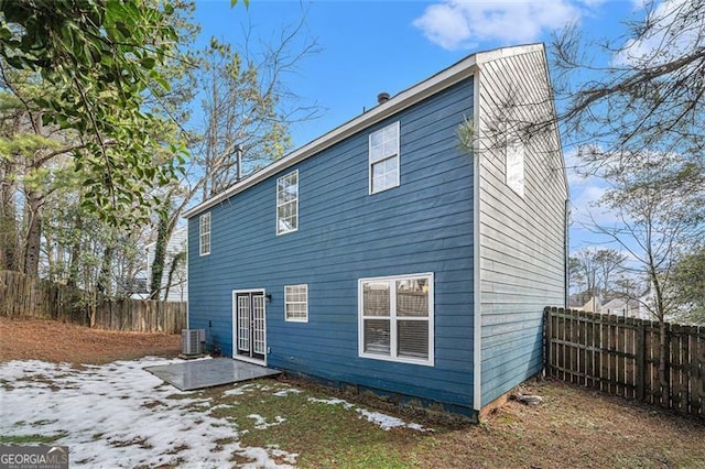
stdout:
[[[234,290],[264,288],[268,366],[473,407],[473,116],[465,79],[209,209],[198,257],[189,220],[189,327],[232,353]],[[401,185],[369,195],[368,137],[400,122]],[[299,230],[275,233],[276,178],[299,170]],[[358,279],[433,272],[433,367],[358,357]],[[284,285],[308,285],[308,323],[284,320]]]

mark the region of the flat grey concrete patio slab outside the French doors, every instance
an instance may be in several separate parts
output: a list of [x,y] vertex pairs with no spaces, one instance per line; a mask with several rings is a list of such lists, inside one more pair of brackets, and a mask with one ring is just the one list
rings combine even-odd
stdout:
[[256,378],[274,377],[281,371],[259,364],[246,363],[230,358],[193,360],[184,363],[145,367],[154,374],[181,391],[193,391],[220,384],[249,381]]

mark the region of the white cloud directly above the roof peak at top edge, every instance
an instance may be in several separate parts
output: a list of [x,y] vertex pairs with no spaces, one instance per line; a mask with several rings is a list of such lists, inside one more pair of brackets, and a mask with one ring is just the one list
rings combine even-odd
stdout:
[[443,48],[469,48],[482,41],[508,44],[536,41],[540,36],[584,14],[581,7],[599,0],[444,0],[426,8],[413,25]]

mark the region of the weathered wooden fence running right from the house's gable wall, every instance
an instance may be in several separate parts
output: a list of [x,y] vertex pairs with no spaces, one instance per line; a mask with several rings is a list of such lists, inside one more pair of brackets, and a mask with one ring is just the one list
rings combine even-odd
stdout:
[[705,418],[705,327],[545,308],[546,375]]

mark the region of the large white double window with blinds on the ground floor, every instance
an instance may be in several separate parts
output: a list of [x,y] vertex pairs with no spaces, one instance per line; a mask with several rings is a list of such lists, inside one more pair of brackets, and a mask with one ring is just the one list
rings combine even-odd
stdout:
[[433,366],[433,274],[361,279],[359,355]]

